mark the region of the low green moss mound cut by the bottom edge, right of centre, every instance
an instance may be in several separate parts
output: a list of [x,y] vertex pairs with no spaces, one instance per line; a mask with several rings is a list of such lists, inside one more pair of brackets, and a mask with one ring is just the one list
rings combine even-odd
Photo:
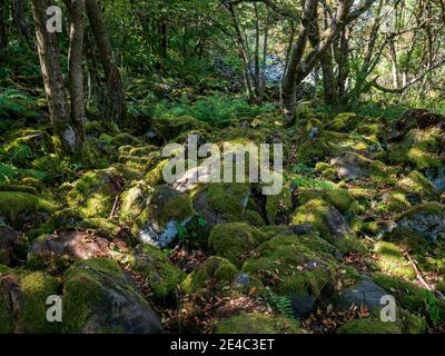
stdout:
[[240,314],[216,325],[216,334],[300,334],[298,324],[284,317]]

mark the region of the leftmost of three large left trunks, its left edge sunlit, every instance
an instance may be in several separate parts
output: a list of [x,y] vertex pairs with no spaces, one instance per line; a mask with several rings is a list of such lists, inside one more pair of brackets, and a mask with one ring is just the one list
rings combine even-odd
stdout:
[[63,154],[80,154],[83,145],[82,125],[71,120],[63,76],[60,68],[59,41],[57,32],[47,31],[47,9],[50,0],[32,0],[36,37],[47,92],[48,108],[55,136]]

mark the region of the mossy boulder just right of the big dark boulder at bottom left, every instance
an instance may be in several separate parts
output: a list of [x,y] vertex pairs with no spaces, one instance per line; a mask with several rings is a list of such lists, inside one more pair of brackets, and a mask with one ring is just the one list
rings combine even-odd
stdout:
[[156,298],[171,298],[184,274],[155,246],[138,245],[128,257],[131,269],[147,278]]

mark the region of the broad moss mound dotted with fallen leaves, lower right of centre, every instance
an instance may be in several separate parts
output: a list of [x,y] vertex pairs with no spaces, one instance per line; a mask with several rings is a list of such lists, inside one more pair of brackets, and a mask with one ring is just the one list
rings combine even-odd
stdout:
[[279,235],[261,244],[243,270],[265,285],[276,275],[274,289],[280,295],[317,297],[333,281],[336,261],[332,251],[333,247],[315,235]]

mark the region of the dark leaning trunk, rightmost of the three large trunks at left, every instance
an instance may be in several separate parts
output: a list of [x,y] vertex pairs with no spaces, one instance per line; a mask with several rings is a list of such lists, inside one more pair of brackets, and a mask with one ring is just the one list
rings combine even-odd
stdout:
[[87,0],[87,13],[99,49],[100,60],[107,77],[106,115],[111,122],[125,121],[127,108],[122,79],[119,73],[110,39],[97,0]]

